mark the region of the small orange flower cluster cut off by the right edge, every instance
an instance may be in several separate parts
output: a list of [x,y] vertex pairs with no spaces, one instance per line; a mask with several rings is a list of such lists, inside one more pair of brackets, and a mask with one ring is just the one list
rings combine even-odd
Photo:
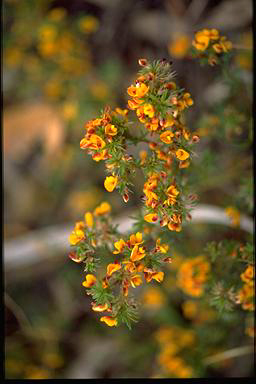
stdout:
[[243,287],[237,294],[237,303],[242,304],[242,308],[247,311],[254,311],[254,279],[255,270],[252,265],[249,265],[241,274],[241,280],[244,282]]

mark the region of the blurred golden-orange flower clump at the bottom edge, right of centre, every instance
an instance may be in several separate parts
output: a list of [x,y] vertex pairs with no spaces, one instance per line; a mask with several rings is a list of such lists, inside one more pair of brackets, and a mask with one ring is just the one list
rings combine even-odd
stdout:
[[177,378],[189,378],[193,375],[192,368],[178,354],[191,348],[196,341],[195,333],[179,327],[165,326],[155,333],[160,346],[158,364],[165,375]]

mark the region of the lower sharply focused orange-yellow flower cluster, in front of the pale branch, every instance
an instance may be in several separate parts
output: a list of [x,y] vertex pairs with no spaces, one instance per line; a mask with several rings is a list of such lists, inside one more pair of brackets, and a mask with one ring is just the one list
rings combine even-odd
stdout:
[[[94,212],[86,212],[84,221],[76,223],[70,235],[70,244],[75,247],[69,256],[85,264],[82,285],[92,295],[92,310],[106,312],[100,318],[109,326],[124,322],[130,327],[136,321],[136,302],[130,288],[145,282],[161,283],[164,272],[161,265],[170,263],[169,246],[157,238],[154,246],[146,245],[142,233],[131,234],[126,240],[112,226],[111,207],[103,202]],[[99,258],[99,255],[104,256]],[[97,277],[92,272],[97,271]],[[98,272],[102,275],[98,276]]]

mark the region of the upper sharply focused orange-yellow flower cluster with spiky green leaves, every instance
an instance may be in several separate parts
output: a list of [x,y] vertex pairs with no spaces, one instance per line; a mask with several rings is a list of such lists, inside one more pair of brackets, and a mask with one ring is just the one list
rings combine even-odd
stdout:
[[[140,59],[143,67],[135,81],[128,87],[128,108],[135,110],[144,125],[141,137],[129,131],[128,110],[105,109],[100,118],[85,124],[86,133],[80,147],[87,149],[95,161],[105,160],[107,171],[104,186],[108,192],[115,188],[123,200],[129,200],[131,176],[136,168],[146,179],[145,220],[160,220],[170,231],[181,231],[182,221],[189,218],[191,200],[182,193],[184,176],[193,156],[193,146],[199,141],[184,123],[183,111],[193,105],[190,93],[179,88],[173,80],[171,64],[165,60],[148,63]],[[128,144],[144,142],[147,151],[140,152],[140,160],[127,152]],[[183,185],[183,188],[181,187]]]

